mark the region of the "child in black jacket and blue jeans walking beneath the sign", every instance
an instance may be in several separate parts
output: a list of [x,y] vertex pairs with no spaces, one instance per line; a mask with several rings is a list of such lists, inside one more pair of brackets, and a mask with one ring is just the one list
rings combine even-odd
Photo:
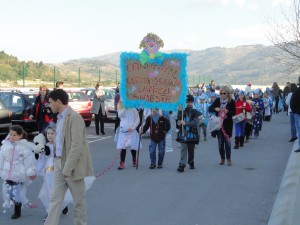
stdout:
[[151,142],[149,145],[151,164],[149,169],[156,168],[156,146],[158,146],[158,163],[157,168],[162,168],[165,147],[166,147],[166,134],[170,130],[170,121],[166,117],[160,114],[158,109],[153,109],[152,114],[146,118],[145,125],[141,130],[141,134],[147,132],[150,128]]

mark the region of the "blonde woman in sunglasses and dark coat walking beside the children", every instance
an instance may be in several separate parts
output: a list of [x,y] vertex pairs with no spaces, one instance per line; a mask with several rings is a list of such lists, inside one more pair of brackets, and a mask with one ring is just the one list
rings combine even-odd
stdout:
[[208,108],[210,112],[215,112],[217,116],[223,119],[223,125],[217,131],[219,152],[221,156],[220,165],[224,165],[225,156],[228,166],[232,165],[231,161],[231,142],[233,130],[232,116],[235,115],[235,102],[231,97],[230,89],[223,86],[220,90],[220,97],[217,98]]

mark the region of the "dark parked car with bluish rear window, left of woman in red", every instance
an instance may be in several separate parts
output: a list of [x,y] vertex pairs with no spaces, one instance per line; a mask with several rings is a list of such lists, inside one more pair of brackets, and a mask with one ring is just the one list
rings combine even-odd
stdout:
[[38,131],[36,121],[29,119],[30,111],[37,95],[38,93],[35,91],[0,91],[0,98],[11,112],[12,124],[22,126],[27,133]]

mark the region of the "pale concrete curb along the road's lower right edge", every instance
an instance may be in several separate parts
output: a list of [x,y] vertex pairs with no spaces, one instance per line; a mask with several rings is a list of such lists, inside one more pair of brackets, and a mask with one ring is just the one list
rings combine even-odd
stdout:
[[300,153],[295,141],[287,163],[268,225],[300,224]]

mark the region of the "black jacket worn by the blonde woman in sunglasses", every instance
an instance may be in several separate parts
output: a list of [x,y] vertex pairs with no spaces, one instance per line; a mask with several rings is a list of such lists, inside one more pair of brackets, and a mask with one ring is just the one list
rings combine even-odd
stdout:
[[[220,98],[217,98],[212,104],[211,106],[208,108],[209,112],[215,112],[216,115],[218,115],[218,112],[215,110],[215,108],[220,108],[221,107],[221,101]],[[232,137],[232,129],[233,129],[233,121],[232,121],[232,117],[235,115],[235,102],[233,99],[231,99],[231,101],[229,101],[226,105],[226,109],[228,110],[228,112],[226,113],[227,118],[224,119],[223,121],[223,128],[226,132],[226,134],[229,137]]]

